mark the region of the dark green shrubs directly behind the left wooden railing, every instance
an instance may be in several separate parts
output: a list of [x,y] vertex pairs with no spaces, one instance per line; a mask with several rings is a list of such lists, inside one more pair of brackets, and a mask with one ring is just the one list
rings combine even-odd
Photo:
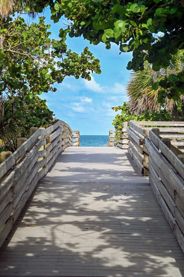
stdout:
[[10,99],[0,98],[0,125],[11,118],[9,124],[0,128],[0,152],[14,152],[18,137],[29,138],[30,127],[45,127],[53,120],[53,111],[47,107],[46,100],[38,96],[29,99],[23,95],[14,96],[14,98],[16,98],[14,99],[16,108],[14,107],[13,114]]

